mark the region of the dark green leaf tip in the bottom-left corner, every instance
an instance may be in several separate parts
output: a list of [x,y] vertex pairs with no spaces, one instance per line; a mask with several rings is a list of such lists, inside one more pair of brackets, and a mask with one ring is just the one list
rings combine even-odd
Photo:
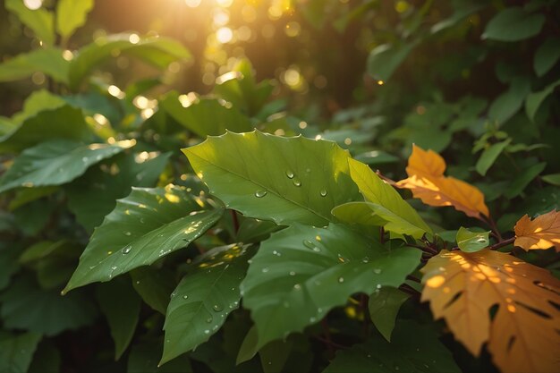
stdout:
[[42,336],[36,333],[12,335],[0,332],[0,371],[25,373]]

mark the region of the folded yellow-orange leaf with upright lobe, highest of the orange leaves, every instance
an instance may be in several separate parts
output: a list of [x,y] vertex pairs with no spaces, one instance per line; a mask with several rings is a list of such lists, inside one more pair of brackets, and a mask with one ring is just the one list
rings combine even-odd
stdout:
[[430,206],[453,206],[468,216],[489,216],[484,194],[467,182],[445,176],[444,171],[444,158],[414,145],[406,167],[409,177],[395,185],[410,189],[415,198]]

